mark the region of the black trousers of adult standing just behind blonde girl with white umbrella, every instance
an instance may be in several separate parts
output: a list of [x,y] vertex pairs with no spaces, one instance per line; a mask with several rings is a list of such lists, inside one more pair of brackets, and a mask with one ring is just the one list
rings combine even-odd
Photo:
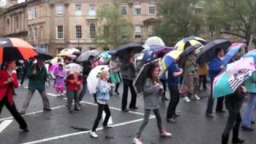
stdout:
[[131,93],[130,108],[134,108],[136,106],[137,94],[134,90],[133,81],[123,79],[122,110],[125,110],[127,106],[128,88],[130,88]]

